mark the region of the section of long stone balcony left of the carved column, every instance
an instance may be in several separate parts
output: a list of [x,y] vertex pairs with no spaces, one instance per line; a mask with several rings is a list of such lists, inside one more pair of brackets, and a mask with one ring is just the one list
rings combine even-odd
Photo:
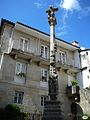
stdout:
[[45,59],[43,57],[41,57],[41,55],[35,55],[34,53],[29,53],[26,51],[22,51],[22,50],[18,50],[18,49],[12,49],[12,51],[10,52],[10,55],[14,58],[14,59],[23,59],[25,61],[27,61],[28,63],[31,62],[35,62],[38,65],[44,64],[49,66],[49,59]]

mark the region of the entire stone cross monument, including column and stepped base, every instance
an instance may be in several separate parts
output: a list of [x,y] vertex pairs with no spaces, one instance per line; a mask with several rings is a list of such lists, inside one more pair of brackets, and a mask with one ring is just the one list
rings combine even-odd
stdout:
[[58,8],[50,6],[46,11],[48,13],[48,22],[50,25],[50,76],[48,89],[50,100],[45,102],[42,120],[64,120],[60,102],[57,100],[58,95],[58,75],[56,70],[56,42],[55,42],[55,25],[57,24],[55,12]]

